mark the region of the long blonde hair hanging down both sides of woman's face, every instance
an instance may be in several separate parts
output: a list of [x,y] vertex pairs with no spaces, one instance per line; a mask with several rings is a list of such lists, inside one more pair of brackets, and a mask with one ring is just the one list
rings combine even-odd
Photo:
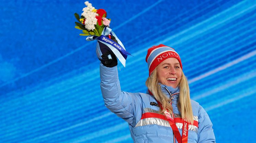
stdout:
[[[153,96],[157,101],[162,104],[163,110],[160,108],[159,113],[163,114],[163,112],[167,109],[169,112],[173,111],[171,103],[171,99],[167,98],[166,95],[162,92],[161,86],[159,85],[156,69],[151,73],[146,81],[146,86],[152,92]],[[193,111],[190,101],[190,93],[189,86],[186,76],[182,71],[182,78],[178,84],[179,86],[179,100],[178,100],[178,110],[181,113],[183,119],[187,119],[188,123],[193,124]]]

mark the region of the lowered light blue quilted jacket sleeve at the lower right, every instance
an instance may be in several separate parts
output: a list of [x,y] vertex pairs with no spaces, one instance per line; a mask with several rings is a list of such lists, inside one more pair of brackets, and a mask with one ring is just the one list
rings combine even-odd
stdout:
[[215,143],[215,136],[212,129],[211,120],[206,113],[205,109],[199,105],[198,115],[198,143]]

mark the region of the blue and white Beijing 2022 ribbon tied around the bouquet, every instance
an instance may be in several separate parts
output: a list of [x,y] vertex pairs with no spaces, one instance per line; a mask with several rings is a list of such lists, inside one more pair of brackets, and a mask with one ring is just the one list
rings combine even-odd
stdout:
[[[109,34],[113,35],[116,38],[118,43],[106,37]],[[111,28],[106,26],[103,29],[101,36],[99,37],[96,35],[90,35],[86,38],[86,41],[93,41],[93,40],[97,40],[98,42],[101,42],[106,46],[108,46],[111,49],[111,51],[116,55],[116,57],[119,59],[119,61],[122,63],[122,65],[125,67],[127,55],[131,55],[131,54],[126,51],[123,43],[117,38],[116,34],[112,31]]]

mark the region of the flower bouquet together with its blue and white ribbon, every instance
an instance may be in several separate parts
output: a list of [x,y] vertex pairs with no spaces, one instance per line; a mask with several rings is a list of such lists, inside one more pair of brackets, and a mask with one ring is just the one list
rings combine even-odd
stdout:
[[[127,55],[131,54],[126,52],[122,42],[117,38],[112,29],[109,28],[111,19],[106,18],[106,11],[104,9],[95,9],[88,1],[84,2],[84,4],[86,7],[83,8],[81,16],[77,13],[74,14],[78,20],[78,22],[75,22],[75,28],[83,31],[80,35],[88,36],[86,41],[97,40],[106,45],[125,67]],[[115,37],[116,41],[113,41],[110,38],[111,36]],[[110,57],[109,59],[111,59]]]

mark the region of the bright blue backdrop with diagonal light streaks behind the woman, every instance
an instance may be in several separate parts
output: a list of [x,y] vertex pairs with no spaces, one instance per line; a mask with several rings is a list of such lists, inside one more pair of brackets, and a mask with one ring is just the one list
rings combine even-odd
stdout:
[[[1,0],[0,142],[132,142],[105,106],[95,41],[75,29],[82,0]],[[253,142],[256,125],[255,0],[90,0],[105,9],[127,51],[121,89],[146,92],[147,49],[181,56],[191,99],[217,142]]]

